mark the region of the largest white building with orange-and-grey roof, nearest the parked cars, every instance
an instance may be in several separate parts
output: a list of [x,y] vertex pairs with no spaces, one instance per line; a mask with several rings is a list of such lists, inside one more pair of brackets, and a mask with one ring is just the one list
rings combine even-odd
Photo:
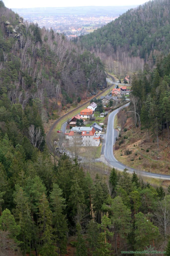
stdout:
[[69,146],[99,146],[100,136],[96,134],[94,127],[73,127],[69,133],[65,133]]

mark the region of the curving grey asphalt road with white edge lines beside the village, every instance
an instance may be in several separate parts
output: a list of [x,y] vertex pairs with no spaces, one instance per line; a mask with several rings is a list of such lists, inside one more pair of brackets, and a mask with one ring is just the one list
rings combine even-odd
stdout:
[[132,167],[128,167],[121,162],[117,161],[116,158],[113,155],[113,144],[115,143],[115,138],[117,136],[116,131],[114,130],[114,118],[115,115],[124,107],[128,106],[129,103],[126,105],[120,107],[119,109],[114,110],[109,114],[108,118],[108,125],[107,125],[107,133],[106,133],[106,143],[104,148],[104,158],[109,163],[110,166],[113,166],[117,168],[120,171],[123,171],[123,169],[127,168],[128,172],[133,173],[134,170],[137,174],[140,174],[142,176],[146,177],[152,177],[152,178],[161,178],[161,179],[168,179],[170,180],[170,175],[166,174],[158,174],[158,173],[150,173],[150,172],[144,172],[137,169],[134,169]]

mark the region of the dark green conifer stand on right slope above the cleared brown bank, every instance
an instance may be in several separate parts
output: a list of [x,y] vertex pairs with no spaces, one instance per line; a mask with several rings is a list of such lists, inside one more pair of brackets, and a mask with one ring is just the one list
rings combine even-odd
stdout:
[[[132,79],[131,104],[136,112],[135,125],[147,130],[150,140],[150,131],[156,135],[159,148],[158,135],[164,139],[165,129],[169,141],[170,122],[170,54],[156,64],[151,71],[148,66],[142,74],[135,74]],[[167,143],[169,146],[169,142]]]

